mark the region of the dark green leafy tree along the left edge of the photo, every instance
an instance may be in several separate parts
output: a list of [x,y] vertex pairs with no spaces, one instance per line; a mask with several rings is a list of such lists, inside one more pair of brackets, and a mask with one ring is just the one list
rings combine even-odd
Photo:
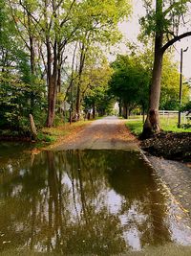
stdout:
[[0,2],[0,96],[1,128],[29,134],[29,114],[42,113],[45,105],[44,82],[32,74],[30,56],[6,1]]

